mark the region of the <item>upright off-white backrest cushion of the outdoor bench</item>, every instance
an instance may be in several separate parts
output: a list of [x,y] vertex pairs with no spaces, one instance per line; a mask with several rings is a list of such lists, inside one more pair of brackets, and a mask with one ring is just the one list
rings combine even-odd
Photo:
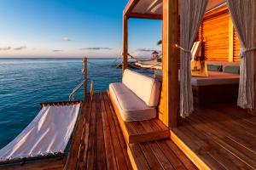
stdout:
[[125,86],[148,106],[157,106],[160,97],[160,82],[152,77],[146,77],[135,71],[126,69],[123,75]]

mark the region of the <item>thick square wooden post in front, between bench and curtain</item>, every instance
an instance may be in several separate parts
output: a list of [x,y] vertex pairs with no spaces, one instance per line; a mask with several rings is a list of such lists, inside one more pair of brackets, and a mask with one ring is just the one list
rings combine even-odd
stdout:
[[163,84],[165,112],[163,122],[177,126],[178,113],[178,0],[163,0]]

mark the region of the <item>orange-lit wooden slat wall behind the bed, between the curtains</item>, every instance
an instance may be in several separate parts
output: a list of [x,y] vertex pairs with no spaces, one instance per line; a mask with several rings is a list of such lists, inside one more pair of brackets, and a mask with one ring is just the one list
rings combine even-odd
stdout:
[[[198,39],[204,42],[203,55],[208,61],[229,61],[229,20],[227,7],[217,8],[205,15]],[[233,61],[237,62],[240,45],[235,29],[233,39]]]

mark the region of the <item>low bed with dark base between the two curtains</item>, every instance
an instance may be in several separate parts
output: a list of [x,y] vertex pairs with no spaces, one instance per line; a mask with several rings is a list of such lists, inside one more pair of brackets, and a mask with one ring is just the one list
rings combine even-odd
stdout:
[[[209,77],[192,77],[191,84],[195,105],[215,105],[236,103],[239,75],[218,71],[208,71]],[[161,72],[155,72],[161,80]]]

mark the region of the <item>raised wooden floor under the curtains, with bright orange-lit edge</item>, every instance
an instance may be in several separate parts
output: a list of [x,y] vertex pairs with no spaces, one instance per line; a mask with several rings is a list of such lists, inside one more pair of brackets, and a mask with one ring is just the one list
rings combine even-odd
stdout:
[[197,108],[171,136],[205,169],[256,169],[256,116],[236,105]]

